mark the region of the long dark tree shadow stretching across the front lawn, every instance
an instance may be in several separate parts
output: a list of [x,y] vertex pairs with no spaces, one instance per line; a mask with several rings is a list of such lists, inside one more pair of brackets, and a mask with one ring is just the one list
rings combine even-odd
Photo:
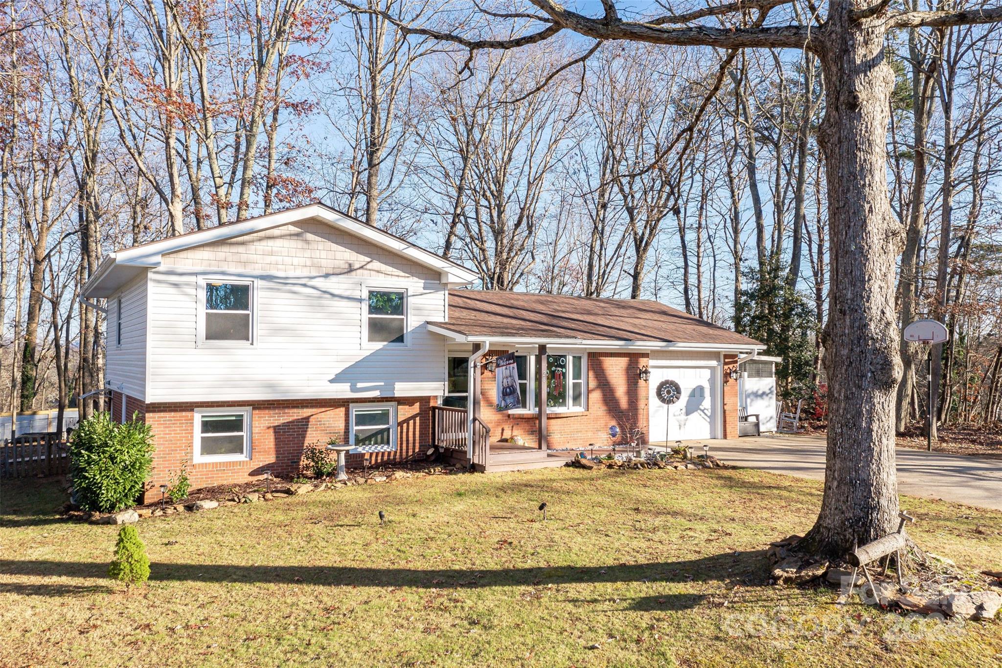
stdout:
[[[151,582],[196,583],[300,583],[315,586],[348,587],[417,587],[423,589],[482,589],[489,587],[535,587],[559,584],[608,584],[627,582],[712,582],[727,581],[764,574],[766,553],[727,552],[701,559],[676,562],[653,562],[609,566],[555,566],[512,569],[408,569],[358,568],[347,566],[247,566],[241,564],[150,565]],[[106,578],[107,565],[94,562],[0,560],[0,575]],[[0,583],[0,592],[40,596],[72,596],[81,593],[79,585],[58,583]],[[666,603],[658,597],[644,602],[641,609],[677,609],[691,607],[701,595],[677,595]]]

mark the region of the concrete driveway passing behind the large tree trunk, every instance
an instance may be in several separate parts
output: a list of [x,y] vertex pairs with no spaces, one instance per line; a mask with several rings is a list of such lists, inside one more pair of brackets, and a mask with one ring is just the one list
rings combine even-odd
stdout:
[[[693,448],[698,454],[701,447]],[[777,435],[708,441],[726,464],[825,480],[825,436]],[[695,445],[693,443],[693,445]],[[1002,510],[1002,460],[898,448],[898,491]]]

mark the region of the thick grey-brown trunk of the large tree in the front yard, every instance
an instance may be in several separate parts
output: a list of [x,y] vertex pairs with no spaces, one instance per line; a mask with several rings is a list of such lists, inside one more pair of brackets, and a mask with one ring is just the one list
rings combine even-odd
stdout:
[[894,311],[901,229],[888,200],[885,145],[894,73],[884,60],[883,19],[849,18],[832,3],[820,49],[828,104],[825,154],[831,229],[825,495],[809,536],[843,556],[896,530],[894,400],[901,375]]

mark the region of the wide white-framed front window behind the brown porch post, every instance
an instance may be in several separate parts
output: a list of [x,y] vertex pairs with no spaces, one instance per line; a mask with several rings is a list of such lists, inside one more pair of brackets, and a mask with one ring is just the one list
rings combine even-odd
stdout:
[[[536,356],[516,355],[518,393],[523,411],[536,410],[539,373]],[[583,353],[549,353],[546,356],[547,413],[584,411],[588,403],[588,356]]]

